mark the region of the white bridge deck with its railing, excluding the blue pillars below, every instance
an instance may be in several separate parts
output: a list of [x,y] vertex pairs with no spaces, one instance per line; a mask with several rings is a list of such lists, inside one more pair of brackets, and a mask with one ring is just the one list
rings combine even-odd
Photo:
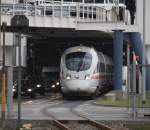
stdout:
[[[26,15],[29,27],[36,28],[72,28],[75,30],[98,30],[112,32],[124,30],[125,32],[138,32],[136,25],[130,25],[126,16],[127,11],[122,6],[122,16],[117,14],[117,7],[106,9],[90,4],[51,4],[49,6],[30,4],[2,4],[2,22],[11,26],[14,15]],[[121,18],[120,18],[120,17]],[[119,18],[118,18],[119,17]]]

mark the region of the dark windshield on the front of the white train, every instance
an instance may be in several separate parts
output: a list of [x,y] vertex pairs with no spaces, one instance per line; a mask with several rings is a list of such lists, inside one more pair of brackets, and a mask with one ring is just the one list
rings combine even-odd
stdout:
[[87,52],[73,52],[66,55],[66,67],[72,71],[84,71],[90,68],[92,55]]

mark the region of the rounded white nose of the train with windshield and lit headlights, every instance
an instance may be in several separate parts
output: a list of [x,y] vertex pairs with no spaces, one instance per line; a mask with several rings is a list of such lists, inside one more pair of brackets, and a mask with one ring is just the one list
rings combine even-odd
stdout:
[[61,90],[64,96],[92,96],[96,82],[91,80],[96,52],[93,48],[74,47],[61,59]]

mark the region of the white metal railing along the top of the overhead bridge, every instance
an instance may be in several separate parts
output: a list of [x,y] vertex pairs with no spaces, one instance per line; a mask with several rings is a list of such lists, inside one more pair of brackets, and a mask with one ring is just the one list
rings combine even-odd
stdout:
[[19,15],[24,14],[28,16],[51,16],[51,17],[74,17],[77,20],[87,21],[99,21],[99,22],[115,22],[124,21],[118,19],[115,7],[108,10],[104,7],[91,4],[83,4],[75,2],[73,4],[44,4],[44,5],[32,5],[32,4],[2,4],[2,14]]

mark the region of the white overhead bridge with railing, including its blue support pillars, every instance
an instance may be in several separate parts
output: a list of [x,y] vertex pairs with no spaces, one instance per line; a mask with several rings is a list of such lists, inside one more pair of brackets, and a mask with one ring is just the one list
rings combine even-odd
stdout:
[[[2,4],[2,20],[8,23],[6,31],[13,31],[10,19],[17,14],[26,15],[29,19],[29,28],[33,31],[45,29],[70,29],[73,31],[94,30],[104,33],[114,31],[114,64],[115,67],[115,89],[121,89],[121,67],[123,32],[131,32],[130,38],[134,44],[135,51],[141,45],[138,26],[131,25],[129,11],[123,0],[26,0],[24,3]],[[118,10],[121,8],[121,10]],[[128,17],[127,17],[128,16]],[[43,29],[43,30],[42,30]],[[27,30],[29,31],[29,30]],[[39,32],[40,32],[39,31]],[[135,32],[135,33],[132,33]],[[30,33],[31,32],[26,32]],[[138,38],[136,38],[138,37]],[[138,40],[138,41],[136,41]],[[136,44],[135,44],[136,43]],[[137,43],[139,43],[137,45]],[[142,51],[138,51],[138,54]],[[140,55],[140,54],[139,54]],[[143,62],[141,62],[143,63]]]

